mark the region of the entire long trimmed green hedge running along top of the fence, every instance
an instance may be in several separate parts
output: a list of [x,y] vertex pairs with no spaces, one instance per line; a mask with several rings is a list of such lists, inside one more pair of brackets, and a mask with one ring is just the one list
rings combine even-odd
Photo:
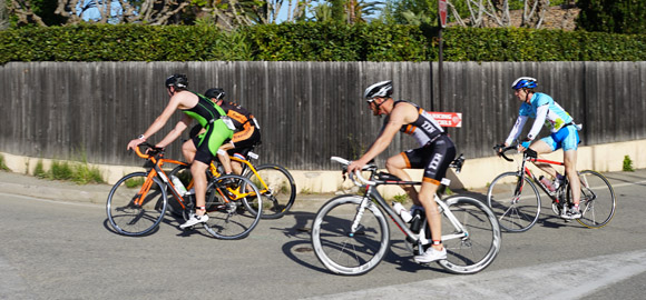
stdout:
[[[287,23],[223,32],[203,26],[96,24],[0,31],[8,61],[427,61],[437,29]],[[640,61],[646,34],[449,28],[446,61]]]

